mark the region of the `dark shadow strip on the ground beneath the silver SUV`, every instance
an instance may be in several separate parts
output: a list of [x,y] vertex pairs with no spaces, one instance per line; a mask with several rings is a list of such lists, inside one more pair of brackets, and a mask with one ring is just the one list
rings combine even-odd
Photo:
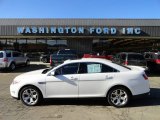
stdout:
[[30,72],[33,70],[39,70],[39,69],[45,69],[48,68],[47,65],[43,64],[30,64],[29,66],[18,66],[14,71],[10,70],[1,70],[0,73],[24,73],[24,72]]

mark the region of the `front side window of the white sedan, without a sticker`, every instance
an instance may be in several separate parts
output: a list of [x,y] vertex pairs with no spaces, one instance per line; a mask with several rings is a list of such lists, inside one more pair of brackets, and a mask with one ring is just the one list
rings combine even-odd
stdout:
[[77,74],[78,72],[78,63],[67,64],[58,68],[55,72],[56,75],[67,75],[67,74]]

